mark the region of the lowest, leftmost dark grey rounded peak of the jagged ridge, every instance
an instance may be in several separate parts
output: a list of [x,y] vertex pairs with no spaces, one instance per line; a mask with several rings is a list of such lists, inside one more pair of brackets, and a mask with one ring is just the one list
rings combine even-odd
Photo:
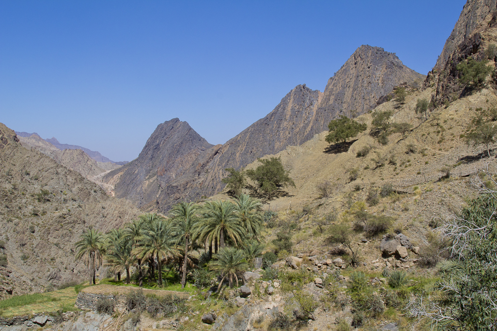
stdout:
[[188,123],[172,119],[157,127],[138,158],[110,172],[107,178],[118,176],[118,198],[143,207],[155,202],[169,183],[195,167],[198,155],[212,146]]

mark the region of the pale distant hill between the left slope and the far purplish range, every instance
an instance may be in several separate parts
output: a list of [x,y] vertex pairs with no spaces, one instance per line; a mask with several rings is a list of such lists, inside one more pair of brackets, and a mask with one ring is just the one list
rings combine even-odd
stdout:
[[[24,132],[25,133],[25,132]],[[29,134],[29,133],[28,133]],[[57,163],[79,172],[84,178],[90,179],[109,170],[117,169],[120,165],[111,162],[98,162],[90,158],[82,149],[60,150],[52,143],[41,138],[37,133],[18,136],[21,144],[26,148],[35,148],[50,156]]]

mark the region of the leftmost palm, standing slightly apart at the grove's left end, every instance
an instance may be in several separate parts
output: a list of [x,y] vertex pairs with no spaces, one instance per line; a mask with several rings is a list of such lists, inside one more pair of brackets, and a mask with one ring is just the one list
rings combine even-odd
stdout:
[[[84,264],[90,268],[90,285],[95,284],[96,269],[102,265],[102,252],[104,251],[104,237],[95,229],[88,229],[80,236],[80,241],[76,243],[78,253],[76,260],[83,258]],[[90,267],[91,265],[91,267]]]

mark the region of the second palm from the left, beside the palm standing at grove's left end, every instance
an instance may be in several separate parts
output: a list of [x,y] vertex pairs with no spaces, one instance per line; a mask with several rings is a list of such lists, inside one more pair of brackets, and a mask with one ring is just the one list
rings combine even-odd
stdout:
[[[129,240],[122,229],[112,229],[107,236],[108,252],[106,253],[107,264],[114,268],[126,269],[126,284],[130,282],[129,269],[135,263],[136,256],[132,254],[133,241]],[[119,280],[120,280],[119,272]]]

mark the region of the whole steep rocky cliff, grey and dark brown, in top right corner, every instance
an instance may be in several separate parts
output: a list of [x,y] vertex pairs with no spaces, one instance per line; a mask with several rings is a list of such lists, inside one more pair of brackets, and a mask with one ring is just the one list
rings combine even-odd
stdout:
[[[477,61],[488,58],[485,50],[496,44],[497,0],[468,0],[447,39],[433,70],[428,72],[424,85],[435,86],[434,106],[447,105],[465,91],[459,84],[456,66],[471,57]],[[490,59],[495,60],[494,58]],[[496,84],[493,74],[488,84]]]

